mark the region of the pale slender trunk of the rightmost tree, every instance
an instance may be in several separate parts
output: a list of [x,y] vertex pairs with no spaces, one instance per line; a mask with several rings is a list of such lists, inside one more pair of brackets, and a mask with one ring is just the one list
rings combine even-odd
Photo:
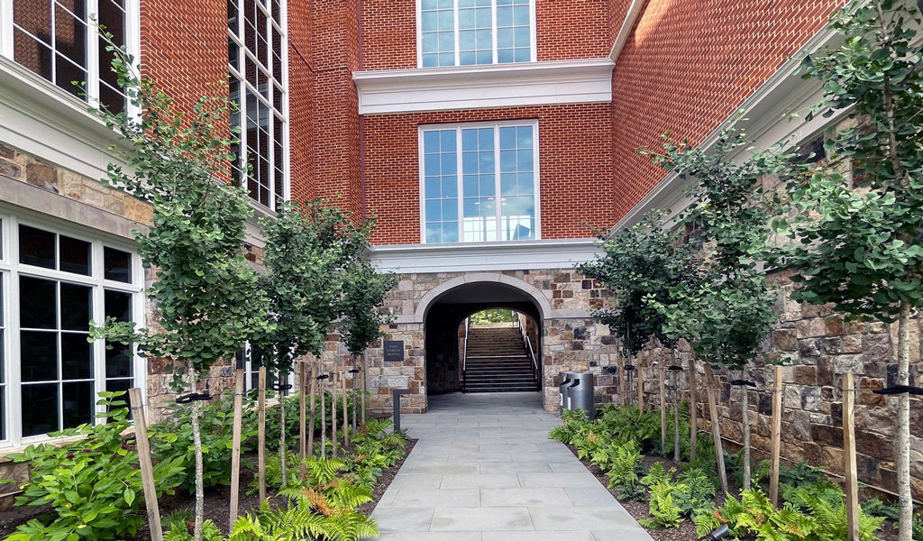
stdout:
[[[910,303],[901,301],[897,326],[897,385],[910,384]],[[897,395],[897,495],[901,503],[898,541],[913,534],[914,501],[910,492],[910,394]]]

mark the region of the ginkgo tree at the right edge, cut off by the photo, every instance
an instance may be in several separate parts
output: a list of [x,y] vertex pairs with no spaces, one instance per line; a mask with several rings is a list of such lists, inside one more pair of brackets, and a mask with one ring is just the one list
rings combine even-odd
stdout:
[[825,163],[789,171],[797,213],[774,227],[792,242],[771,254],[796,271],[793,298],[897,322],[897,371],[885,392],[896,413],[901,541],[911,538],[910,393],[919,392],[909,381],[910,327],[923,306],[921,22],[911,0],[850,4],[831,18],[845,44],[805,57],[804,77],[824,91],[809,115],[845,112],[853,122],[828,130]]

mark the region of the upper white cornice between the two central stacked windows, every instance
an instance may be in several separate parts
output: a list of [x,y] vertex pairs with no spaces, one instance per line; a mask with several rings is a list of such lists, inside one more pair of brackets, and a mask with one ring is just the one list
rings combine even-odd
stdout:
[[417,113],[610,102],[613,66],[608,58],[588,58],[357,71],[353,80],[359,114]]

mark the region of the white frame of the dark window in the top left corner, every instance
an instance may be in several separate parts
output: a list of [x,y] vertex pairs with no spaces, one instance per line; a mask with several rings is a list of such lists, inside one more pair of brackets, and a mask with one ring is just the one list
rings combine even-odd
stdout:
[[[13,35],[15,31],[13,30],[13,2],[15,0],[0,0],[0,56],[5,57],[10,62],[16,62],[15,60],[15,44]],[[18,0],[18,1],[35,1],[35,0]],[[87,3],[87,13],[90,16],[95,16],[99,13],[99,0],[85,0]],[[140,62],[140,50],[141,50],[141,15],[140,15],[140,0],[126,0],[125,2],[126,9],[126,28],[125,28],[125,47],[126,52],[135,58],[135,69],[138,70]],[[54,18],[54,11],[53,11]],[[93,31],[95,26],[89,20],[87,22],[87,42],[86,54],[87,54],[87,86],[86,86],[86,99],[85,103],[89,103],[90,106],[99,108],[100,102],[100,70],[103,69],[100,66],[100,42],[97,39],[98,33]],[[107,66],[108,67],[108,66]],[[60,90],[64,92],[67,97],[74,100],[80,100],[78,96],[75,96],[73,93],[61,88],[56,83],[47,78],[43,78],[39,74],[32,73],[30,69],[25,68],[24,71],[28,72],[30,76],[33,76],[35,80],[42,81],[42,84],[48,85],[49,87],[54,88],[55,90]],[[130,115],[137,116],[140,112],[138,107],[129,102],[126,99],[125,111]]]

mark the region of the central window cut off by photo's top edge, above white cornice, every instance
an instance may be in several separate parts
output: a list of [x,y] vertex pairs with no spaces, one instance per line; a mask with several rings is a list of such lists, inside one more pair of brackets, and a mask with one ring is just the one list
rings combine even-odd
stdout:
[[420,66],[534,60],[533,0],[419,0]]

